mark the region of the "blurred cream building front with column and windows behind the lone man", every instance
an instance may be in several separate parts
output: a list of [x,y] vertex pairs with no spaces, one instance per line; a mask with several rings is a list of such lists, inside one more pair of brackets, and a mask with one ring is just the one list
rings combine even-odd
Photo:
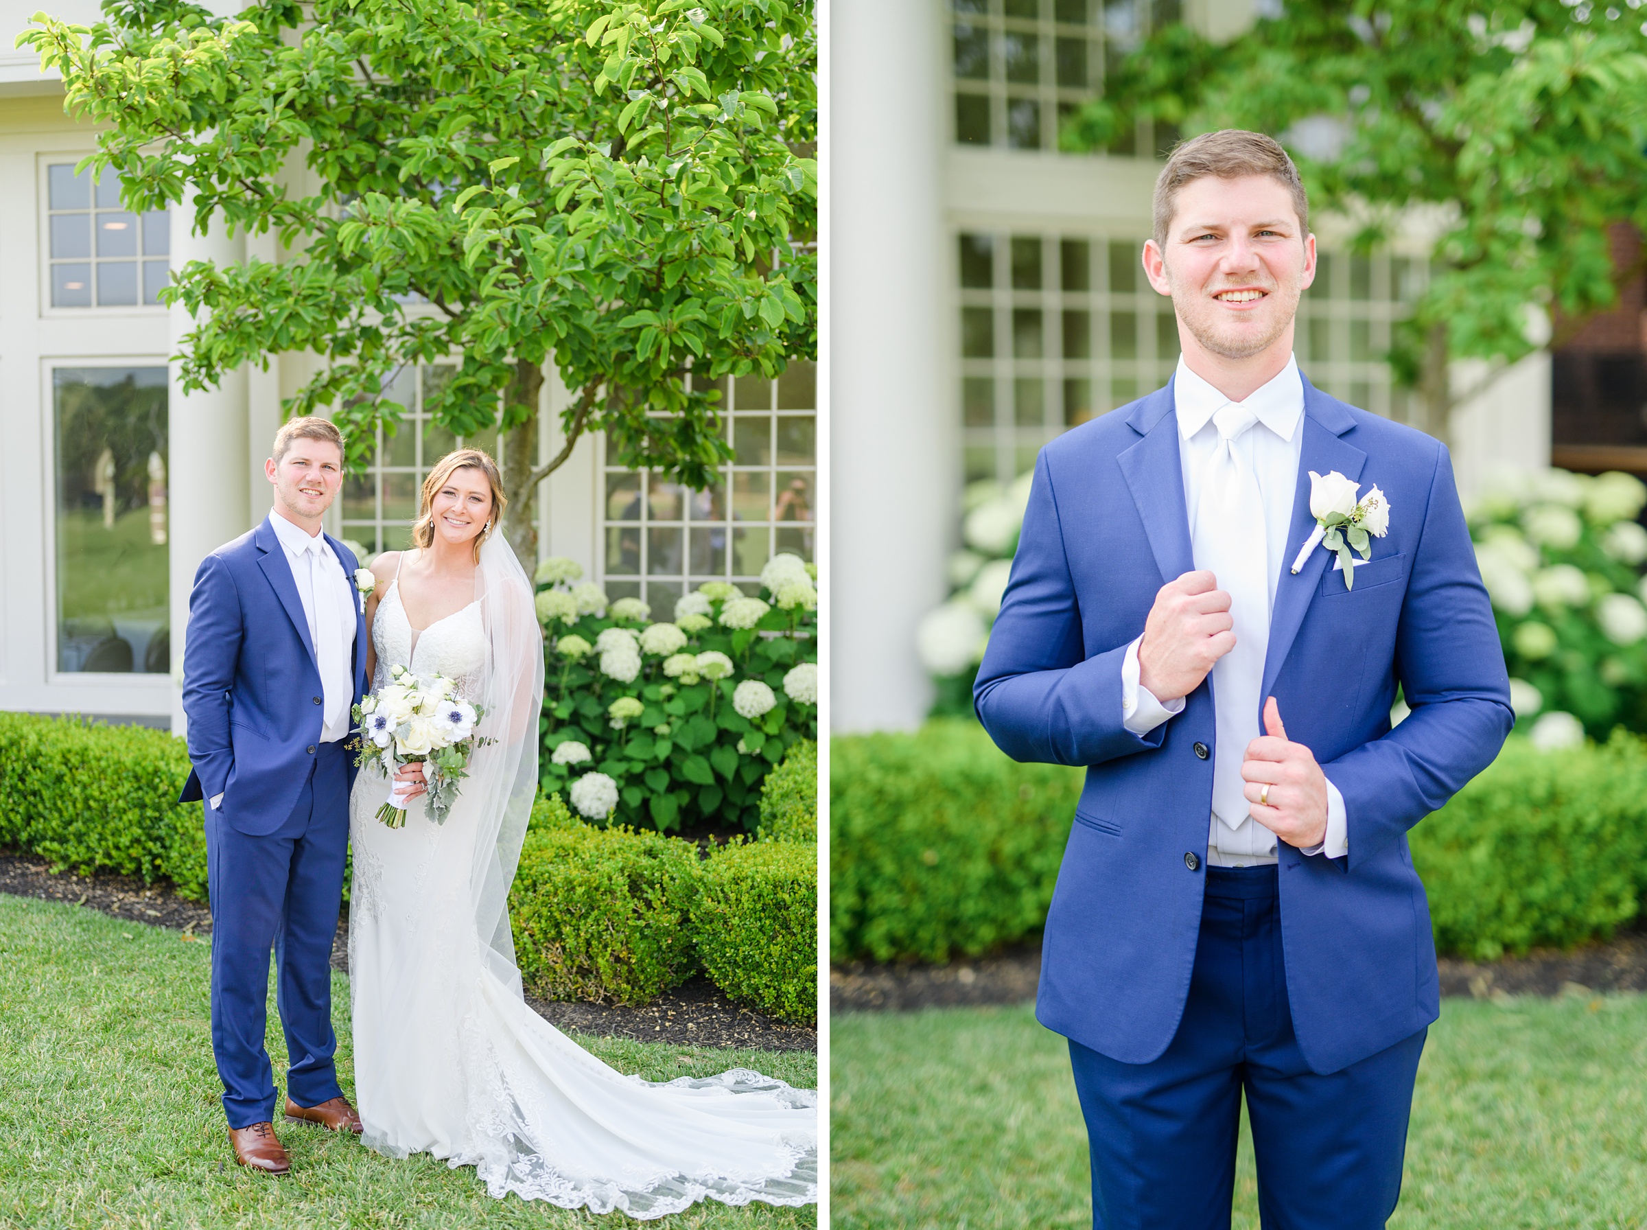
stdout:
[[[1102,155],[1057,122],[1151,23],[1227,36],[1257,0],[833,0],[830,18],[832,724],[909,729],[932,700],[916,626],[947,593],[965,484],[1010,482],[1061,431],[1166,382],[1171,301],[1140,249],[1159,151],[1140,125]],[[1403,418],[1379,359],[1423,285],[1421,235],[1370,257],[1313,221],[1323,259],[1298,361]],[[1454,377],[1467,387],[1467,375]],[[1550,459],[1540,354],[1454,412],[1469,491]]]

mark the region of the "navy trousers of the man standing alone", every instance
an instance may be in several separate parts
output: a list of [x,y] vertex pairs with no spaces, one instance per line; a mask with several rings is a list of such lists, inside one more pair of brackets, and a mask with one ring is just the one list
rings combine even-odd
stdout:
[[1426,1031],[1309,1070],[1286,998],[1275,866],[1207,868],[1184,1016],[1122,1064],[1071,1042],[1095,1230],[1227,1230],[1247,1097],[1265,1230],[1375,1230],[1395,1210]]

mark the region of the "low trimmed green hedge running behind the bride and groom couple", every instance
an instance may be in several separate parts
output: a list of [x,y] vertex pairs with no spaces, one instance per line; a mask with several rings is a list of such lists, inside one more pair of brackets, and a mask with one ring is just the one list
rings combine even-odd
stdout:
[[[809,748],[769,776],[784,832],[817,832]],[[810,818],[796,802],[809,762]],[[0,713],[0,846],[81,873],[170,879],[204,901],[201,808],[171,802],[188,772],[183,741],[165,731]],[[644,1003],[702,963],[733,999],[815,1018],[815,845],[740,843],[703,861],[690,841],[585,825],[552,795],[532,810],[509,909],[537,995]]]

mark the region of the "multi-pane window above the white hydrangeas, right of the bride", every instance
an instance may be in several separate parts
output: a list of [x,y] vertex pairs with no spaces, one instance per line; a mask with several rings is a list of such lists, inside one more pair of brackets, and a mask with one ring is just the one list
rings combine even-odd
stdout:
[[716,384],[731,464],[707,491],[608,466],[601,487],[603,576],[611,598],[637,596],[667,617],[703,581],[749,593],[777,552],[812,558],[817,509],[817,372],[791,361],[776,380]]

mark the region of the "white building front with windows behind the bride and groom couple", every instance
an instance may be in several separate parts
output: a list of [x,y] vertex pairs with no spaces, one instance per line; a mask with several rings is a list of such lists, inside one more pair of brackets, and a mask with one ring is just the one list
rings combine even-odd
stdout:
[[[33,5],[0,5],[26,28]],[[64,0],[92,23],[96,3]],[[176,364],[191,328],[158,301],[188,260],[277,260],[273,237],[194,235],[184,211],[133,216],[119,184],[74,165],[96,128],[63,110],[61,82],[28,51],[0,56],[0,710],[82,713],[181,731],[178,683],[188,594],[208,552],[270,509],[264,478],[282,398],[316,370],[270,356],[184,395]],[[295,175],[303,175],[296,170]],[[453,357],[456,362],[456,356]],[[400,431],[379,438],[326,529],[369,558],[404,547],[418,487],[458,445],[496,451],[496,431],[458,440],[423,413],[445,364],[402,372]],[[710,491],[609,466],[585,436],[537,492],[539,553],[583,565],[611,598],[642,596],[667,617],[708,580],[754,593],[776,552],[814,557],[817,392],[810,362],[777,380],[721,387],[733,461]],[[567,394],[545,382],[542,459],[560,451]]]

